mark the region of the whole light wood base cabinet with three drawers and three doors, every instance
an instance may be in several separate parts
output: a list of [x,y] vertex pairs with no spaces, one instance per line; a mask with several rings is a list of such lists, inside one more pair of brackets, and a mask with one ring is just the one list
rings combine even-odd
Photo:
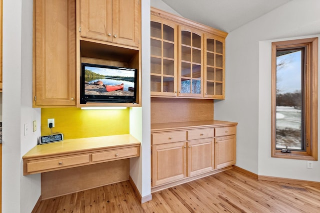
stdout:
[[236,125],[214,120],[151,124],[151,192],[230,169]]

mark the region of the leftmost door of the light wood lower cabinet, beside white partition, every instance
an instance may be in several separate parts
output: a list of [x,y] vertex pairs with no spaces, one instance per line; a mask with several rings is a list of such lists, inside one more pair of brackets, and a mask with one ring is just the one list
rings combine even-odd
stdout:
[[186,142],[152,146],[152,187],[186,177]]

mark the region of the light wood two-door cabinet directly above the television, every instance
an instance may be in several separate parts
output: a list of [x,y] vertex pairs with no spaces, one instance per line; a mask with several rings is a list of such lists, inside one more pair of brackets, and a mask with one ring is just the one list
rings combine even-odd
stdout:
[[139,45],[139,0],[80,0],[80,36]]

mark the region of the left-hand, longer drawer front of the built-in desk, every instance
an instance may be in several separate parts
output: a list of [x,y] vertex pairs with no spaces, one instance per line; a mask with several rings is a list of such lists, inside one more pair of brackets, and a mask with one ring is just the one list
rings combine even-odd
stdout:
[[89,154],[65,157],[65,158],[63,157],[55,158],[55,159],[44,160],[44,161],[27,162],[26,172],[31,173],[31,172],[38,172],[38,171],[45,171],[45,170],[54,170],[57,168],[85,164],[89,162],[90,162]]

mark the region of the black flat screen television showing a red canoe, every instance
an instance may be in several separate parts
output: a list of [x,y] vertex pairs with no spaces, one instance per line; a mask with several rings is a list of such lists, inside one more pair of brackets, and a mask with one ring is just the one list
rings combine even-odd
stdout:
[[137,70],[81,63],[80,104],[135,103]]

